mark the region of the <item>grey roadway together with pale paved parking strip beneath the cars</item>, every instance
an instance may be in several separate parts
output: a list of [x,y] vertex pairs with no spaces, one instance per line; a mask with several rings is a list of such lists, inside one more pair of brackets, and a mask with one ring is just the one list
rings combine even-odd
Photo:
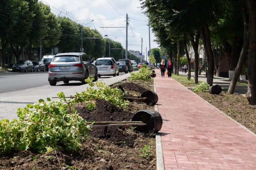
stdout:
[[[17,118],[17,108],[24,108],[28,103],[33,104],[39,99],[57,97],[62,91],[65,96],[73,96],[76,92],[81,93],[89,86],[82,85],[79,81],[70,81],[69,84],[59,82],[56,86],[50,86],[47,72],[0,72],[0,120]],[[130,76],[130,73],[121,73],[119,76],[102,76],[98,81],[110,85]],[[94,87],[97,88],[97,87]],[[52,100],[58,100],[52,98]]]

